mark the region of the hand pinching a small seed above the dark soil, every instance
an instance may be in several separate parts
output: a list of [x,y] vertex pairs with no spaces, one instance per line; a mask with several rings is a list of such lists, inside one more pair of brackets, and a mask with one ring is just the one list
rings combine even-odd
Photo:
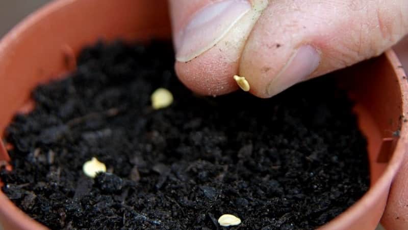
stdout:
[[406,0],[169,0],[176,72],[203,95],[267,98],[377,56],[408,32]]

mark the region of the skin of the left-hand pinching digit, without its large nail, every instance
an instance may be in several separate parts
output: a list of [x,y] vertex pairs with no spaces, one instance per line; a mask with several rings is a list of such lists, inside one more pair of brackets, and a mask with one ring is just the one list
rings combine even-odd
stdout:
[[[188,13],[180,12],[178,6],[184,2],[187,4],[185,9],[193,15],[200,7],[212,4],[212,1],[170,1],[171,15],[173,17],[179,14],[182,15],[181,19],[173,19],[173,38],[176,50],[181,45],[179,42],[179,36],[181,35],[179,34],[182,33],[182,28],[187,24],[188,19],[193,16],[187,16]],[[249,2],[252,5],[252,9],[258,9],[256,7],[260,5],[267,5],[265,4],[267,0],[251,0]],[[175,71],[180,80],[188,88],[201,95],[216,96],[238,89],[233,76],[238,73],[240,57],[245,42],[260,15],[261,11],[251,10],[210,50],[186,62],[176,61]]]

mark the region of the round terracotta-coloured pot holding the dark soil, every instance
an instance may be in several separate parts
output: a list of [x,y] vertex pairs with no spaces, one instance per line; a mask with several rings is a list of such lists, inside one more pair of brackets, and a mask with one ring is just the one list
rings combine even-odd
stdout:
[[[60,0],[25,19],[0,42],[0,135],[18,110],[28,111],[30,90],[73,70],[75,55],[103,38],[170,38],[165,1]],[[406,150],[408,83],[393,51],[337,73],[356,101],[368,139],[371,187],[362,199],[321,229],[374,229]],[[397,134],[399,131],[399,137]],[[0,160],[9,160],[0,142]],[[6,229],[43,229],[0,192]]]

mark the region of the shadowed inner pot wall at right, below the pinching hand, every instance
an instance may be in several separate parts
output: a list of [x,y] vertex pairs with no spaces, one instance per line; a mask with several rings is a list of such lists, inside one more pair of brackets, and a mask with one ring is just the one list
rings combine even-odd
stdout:
[[404,122],[399,81],[405,79],[398,79],[386,55],[339,71],[337,77],[356,102],[354,111],[367,137],[373,185],[386,169],[399,139]]

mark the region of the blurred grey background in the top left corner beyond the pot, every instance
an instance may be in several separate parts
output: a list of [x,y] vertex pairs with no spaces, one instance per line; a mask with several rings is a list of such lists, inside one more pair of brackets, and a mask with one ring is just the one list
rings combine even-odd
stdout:
[[0,0],[0,37],[22,18],[51,0]]

